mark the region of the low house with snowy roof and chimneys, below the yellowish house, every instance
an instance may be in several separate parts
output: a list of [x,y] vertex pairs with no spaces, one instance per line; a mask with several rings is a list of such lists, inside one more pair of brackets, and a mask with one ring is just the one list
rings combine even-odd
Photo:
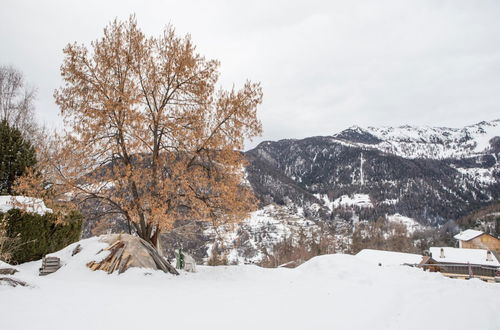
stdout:
[[500,256],[490,250],[431,247],[419,264],[424,270],[451,278],[479,278],[500,282]]

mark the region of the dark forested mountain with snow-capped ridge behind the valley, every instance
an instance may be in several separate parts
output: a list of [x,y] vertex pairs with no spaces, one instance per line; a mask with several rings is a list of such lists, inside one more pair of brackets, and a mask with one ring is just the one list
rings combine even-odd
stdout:
[[248,180],[262,205],[295,204],[311,218],[399,213],[438,225],[500,197],[499,136],[494,120],[268,141],[247,152]]

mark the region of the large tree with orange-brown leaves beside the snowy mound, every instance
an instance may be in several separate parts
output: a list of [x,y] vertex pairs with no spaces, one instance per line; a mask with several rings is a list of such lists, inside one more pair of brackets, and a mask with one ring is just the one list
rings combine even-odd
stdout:
[[64,54],[55,98],[69,130],[39,156],[46,192],[97,200],[154,245],[176,219],[236,222],[253,209],[240,151],[261,133],[259,84],[218,89],[219,63],[189,36],[146,37],[133,16]]

